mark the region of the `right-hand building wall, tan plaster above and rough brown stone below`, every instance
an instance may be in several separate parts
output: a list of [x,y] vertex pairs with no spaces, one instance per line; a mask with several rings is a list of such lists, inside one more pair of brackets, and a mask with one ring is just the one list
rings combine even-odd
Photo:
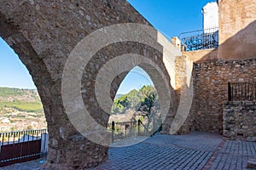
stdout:
[[[195,61],[195,130],[222,133],[228,82],[256,80],[256,2],[218,1],[219,47],[183,52]],[[236,7],[236,8],[235,8]]]

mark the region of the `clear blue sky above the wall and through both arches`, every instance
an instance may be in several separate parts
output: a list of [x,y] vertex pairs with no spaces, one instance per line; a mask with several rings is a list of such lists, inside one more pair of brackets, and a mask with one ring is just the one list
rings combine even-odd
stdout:
[[[212,0],[214,1],[214,0]],[[210,0],[128,0],[166,37],[178,37],[185,31],[202,29],[201,8]],[[121,83],[118,94],[152,84],[148,74],[136,67]],[[0,38],[0,87],[36,88],[32,77],[6,42]]]

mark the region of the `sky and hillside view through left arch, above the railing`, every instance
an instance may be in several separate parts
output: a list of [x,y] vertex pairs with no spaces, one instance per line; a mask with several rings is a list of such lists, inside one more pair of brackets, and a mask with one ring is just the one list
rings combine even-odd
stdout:
[[46,129],[43,105],[31,75],[2,38],[0,44],[0,132]]

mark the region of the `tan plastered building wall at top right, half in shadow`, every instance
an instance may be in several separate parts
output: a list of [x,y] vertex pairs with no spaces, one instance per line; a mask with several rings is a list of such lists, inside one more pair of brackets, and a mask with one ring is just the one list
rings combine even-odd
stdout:
[[218,1],[218,59],[251,59],[256,54],[255,0]]

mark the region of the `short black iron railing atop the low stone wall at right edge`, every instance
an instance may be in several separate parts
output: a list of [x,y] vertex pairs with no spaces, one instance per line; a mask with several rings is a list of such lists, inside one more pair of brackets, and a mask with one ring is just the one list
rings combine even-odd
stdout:
[[228,82],[229,101],[256,101],[256,82]]

